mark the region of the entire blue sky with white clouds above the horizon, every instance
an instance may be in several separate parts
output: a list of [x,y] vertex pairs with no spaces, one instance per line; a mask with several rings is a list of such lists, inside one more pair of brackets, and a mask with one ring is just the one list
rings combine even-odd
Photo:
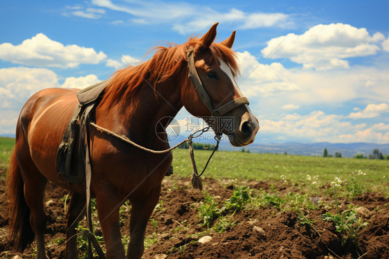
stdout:
[[87,87],[219,21],[216,41],[237,30],[255,142],[389,143],[387,10],[388,1],[7,1],[0,134],[15,132],[36,91]]

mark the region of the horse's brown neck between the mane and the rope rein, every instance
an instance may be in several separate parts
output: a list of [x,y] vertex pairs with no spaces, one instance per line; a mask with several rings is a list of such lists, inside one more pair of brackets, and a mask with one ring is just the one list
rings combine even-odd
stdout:
[[[144,82],[131,100],[116,102],[106,112],[96,109],[96,123],[147,145],[147,142],[158,138],[156,131],[161,132],[165,118],[174,118],[181,109],[180,92],[177,80],[157,85],[155,92],[151,84]],[[159,123],[161,121],[162,124]]]

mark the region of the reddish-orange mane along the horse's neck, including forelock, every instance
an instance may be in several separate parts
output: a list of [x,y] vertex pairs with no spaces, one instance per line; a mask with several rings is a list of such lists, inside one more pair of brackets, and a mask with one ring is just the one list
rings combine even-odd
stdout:
[[[127,66],[116,71],[105,89],[104,100],[107,107],[120,100],[129,100],[128,98],[144,82],[152,85],[155,89],[160,82],[168,80],[174,74],[182,71],[183,68],[187,68],[187,51],[190,46],[194,48],[194,55],[196,55],[197,51],[201,51],[202,42],[197,37],[191,37],[185,44],[173,43],[169,44],[168,47],[156,47],[150,60],[138,66]],[[220,57],[230,66],[235,76],[239,74],[235,51],[215,42],[211,44],[210,51],[212,59],[217,60],[217,57]]]

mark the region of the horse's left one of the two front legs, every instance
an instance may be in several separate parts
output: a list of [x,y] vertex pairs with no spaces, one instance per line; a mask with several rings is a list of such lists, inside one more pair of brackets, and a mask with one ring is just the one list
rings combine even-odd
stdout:
[[120,235],[119,209],[115,208],[120,204],[120,199],[114,195],[114,188],[107,186],[100,188],[96,192],[96,206],[98,219],[104,236],[107,259],[125,258],[125,249]]

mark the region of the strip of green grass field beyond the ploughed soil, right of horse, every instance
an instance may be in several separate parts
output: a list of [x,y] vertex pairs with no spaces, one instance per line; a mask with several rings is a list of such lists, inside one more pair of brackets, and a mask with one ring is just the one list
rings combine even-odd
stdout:
[[[209,155],[210,151],[207,150],[194,151],[199,171]],[[173,157],[174,175],[189,177],[192,174],[192,163],[188,150],[174,150]],[[284,175],[287,181],[298,183],[307,182],[307,175],[318,175],[318,184],[324,184],[334,177],[351,181],[356,170],[365,172],[363,182],[367,188],[381,186],[388,182],[389,161],[218,151],[203,176],[278,181]]]

